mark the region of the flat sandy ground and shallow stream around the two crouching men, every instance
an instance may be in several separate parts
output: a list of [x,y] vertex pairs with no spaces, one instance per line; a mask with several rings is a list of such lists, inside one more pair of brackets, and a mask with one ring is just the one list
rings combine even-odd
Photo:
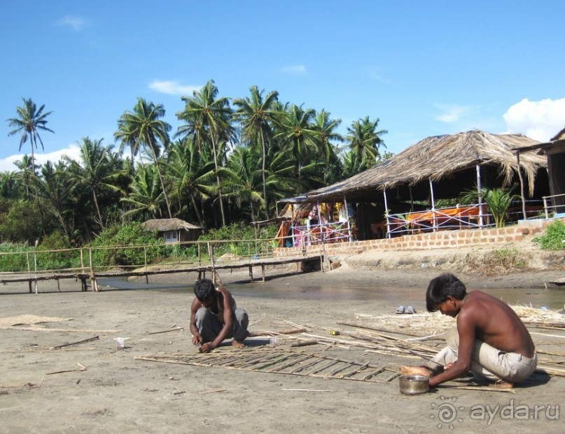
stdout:
[[[326,273],[267,270],[265,283],[249,284],[245,273],[225,273],[221,279],[249,313],[251,331],[309,324],[317,327],[311,333],[328,336],[331,329],[354,331],[337,321],[390,315],[399,304],[413,305],[418,317],[426,285],[440,272],[342,262]],[[565,303],[564,287],[545,289],[544,282],[563,276],[561,270],[537,270],[461,278],[469,289],[502,291],[510,304],[557,310]],[[169,275],[149,285],[137,282],[142,289],[99,293],[78,291],[78,282],[62,282],[60,289],[44,283],[40,294],[27,294],[25,285],[0,287],[0,433],[563,432],[564,377],[529,381],[515,393],[446,387],[405,396],[398,379],[323,379],[136,359],[160,352],[195,354],[188,330],[194,279]],[[29,317],[14,319],[22,315],[58,321],[30,325]],[[398,321],[410,319],[402,315]],[[153,334],[158,331],[168,332]],[[543,333],[536,342],[557,354],[549,358],[565,361],[565,333]],[[118,337],[127,338],[124,349],[116,349]],[[291,342],[281,338],[272,347],[268,338],[255,338],[240,351],[290,351]],[[392,370],[421,363],[339,345],[295,351]],[[215,350],[221,352],[230,356],[232,347]]]

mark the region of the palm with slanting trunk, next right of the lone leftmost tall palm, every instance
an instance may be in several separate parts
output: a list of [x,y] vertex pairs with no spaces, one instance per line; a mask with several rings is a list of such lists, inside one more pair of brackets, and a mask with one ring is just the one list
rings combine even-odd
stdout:
[[98,204],[98,196],[104,189],[118,190],[118,187],[112,181],[120,173],[116,173],[114,167],[110,164],[113,146],[103,146],[102,140],[104,139],[90,140],[88,137],[83,138],[82,145],[79,143],[81,145],[81,162],[71,160],[69,157],[65,157],[65,159],[69,163],[71,176],[92,192],[98,224],[104,230],[104,219],[102,219],[102,212]]

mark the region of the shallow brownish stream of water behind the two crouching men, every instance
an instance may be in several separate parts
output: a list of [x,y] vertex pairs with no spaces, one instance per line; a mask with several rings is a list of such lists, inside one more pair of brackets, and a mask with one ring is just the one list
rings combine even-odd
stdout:
[[[101,280],[100,284],[116,289],[151,290],[167,292],[187,292],[192,295],[192,285],[187,284],[155,284],[144,282],[128,282],[127,280]],[[302,301],[371,301],[384,305],[412,305],[414,308],[424,310],[426,288],[401,288],[398,287],[337,287],[331,284],[309,285],[298,287],[270,282],[268,287],[261,283],[238,283],[229,285],[235,296],[290,299]],[[472,287],[469,287],[472,290]],[[508,288],[508,289],[482,289],[510,305],[527,305],[533,308],[546,307],[548,309],[563,309],[565,305],[565,287],[561,288]]]

